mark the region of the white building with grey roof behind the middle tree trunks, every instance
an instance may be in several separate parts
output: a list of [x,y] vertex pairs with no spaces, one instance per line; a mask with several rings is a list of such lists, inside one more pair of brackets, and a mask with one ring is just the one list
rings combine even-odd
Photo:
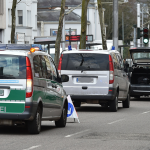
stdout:
[[[94,0],[87,9],[87,35],[93,35],[93,41],[101,40],[101,28],[97,7],[95,8]],[[81,4],[81,0],[70,1],[66,0],[66,7],[73,9]],[[38,36],[56,36],[59,24],[60,12],[57,10],[60,7],[60,0],[40,0],[38,3]],[[53,10],[53,9],[56,10]],[[103,12],[105,9],[103,9]],[[66,34],[71,28],[72,35],[81,34],[81,12],[82,7],[76,8],[73,12],[65,15],[65,30]],[[106,27],[105,27],[106,28]],[[74,42],[71,43],[73,46]],[[76,44],[76,43],[75,43]],[[66,44],[67,47],[68,44]],[[79,45],[79,42],[78,44]],[[73,46],[74,47],[74,46]],[[78,48],[78,47],[75,47]]]

